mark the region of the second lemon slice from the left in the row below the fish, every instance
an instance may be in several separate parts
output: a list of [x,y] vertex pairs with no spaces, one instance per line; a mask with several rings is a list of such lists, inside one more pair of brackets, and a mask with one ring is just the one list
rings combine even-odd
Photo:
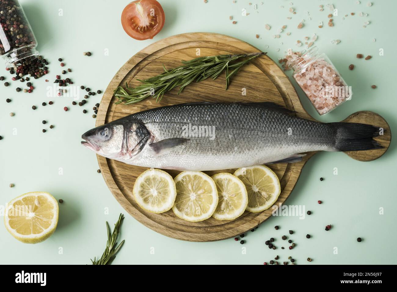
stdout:
[[214,214],[218,191],[212,178],[200,171],[183,171],[174,182],[177,195],[172,211],[177,217],[197,222]]

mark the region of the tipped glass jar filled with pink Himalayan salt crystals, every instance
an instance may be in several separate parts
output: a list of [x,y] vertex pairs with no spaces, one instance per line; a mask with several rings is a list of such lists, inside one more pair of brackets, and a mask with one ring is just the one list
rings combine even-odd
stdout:
[[295,81],[320,115],[330,112],[353,95],[351,87],[328,56],[319,52],[316,46],[288,57]]

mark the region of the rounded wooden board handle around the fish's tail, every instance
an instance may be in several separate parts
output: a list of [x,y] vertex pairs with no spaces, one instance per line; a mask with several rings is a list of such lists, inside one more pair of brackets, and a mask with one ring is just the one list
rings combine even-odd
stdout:
[[[386,152],[387,148],[389,148],[391,141],[390,127],[386,120],[379,114],[369,111],[355,112],[342,122],[369,124],[383,129],[383,135],[374,138],[383,148],[364,151],[346,151],[345,153],[351,158],[359,161],[372,161],[381,157]],[[380,129],[380,131],[382,129]]]

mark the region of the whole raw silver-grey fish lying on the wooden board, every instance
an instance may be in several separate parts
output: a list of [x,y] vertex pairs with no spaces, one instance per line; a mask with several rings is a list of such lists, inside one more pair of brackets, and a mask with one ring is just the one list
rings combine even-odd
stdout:
[[379,149],[379,131],[306,120],[273,102],[193,102],[125,116],[87,131],[81,144],[135,166],[205,171],[299,162],[310,151]]

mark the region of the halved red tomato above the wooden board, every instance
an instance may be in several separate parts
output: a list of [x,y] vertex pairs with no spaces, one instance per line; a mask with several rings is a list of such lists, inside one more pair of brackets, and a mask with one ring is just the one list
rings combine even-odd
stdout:
[[163,28],[165,20],[164,10],[156,0],[133,1],[121,13],[124,31],[139,41],[153,39]]

